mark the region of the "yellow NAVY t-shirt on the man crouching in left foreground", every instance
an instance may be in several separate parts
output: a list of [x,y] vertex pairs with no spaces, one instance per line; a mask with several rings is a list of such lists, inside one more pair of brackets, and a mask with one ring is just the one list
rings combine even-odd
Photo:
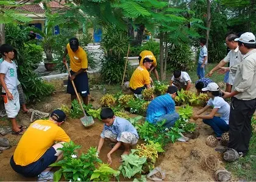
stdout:
[[13,154],[15,164],[27,166],[37,161],[54,141],[69,142],[66,132],[51,120],[37,120],[30,124]]

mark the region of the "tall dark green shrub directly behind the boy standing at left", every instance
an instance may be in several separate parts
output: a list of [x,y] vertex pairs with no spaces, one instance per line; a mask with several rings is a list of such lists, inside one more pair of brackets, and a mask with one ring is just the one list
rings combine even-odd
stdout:
[[35,66],[41,61],[41,48],[32,44],[29,38],[29,27],[15,24],[5,26],[5,42],[15,48],[15,61],[18,64],[18,79],[21,82],[27,101],[36,101],[51,95],[54,86],[44,82],[37,73]]

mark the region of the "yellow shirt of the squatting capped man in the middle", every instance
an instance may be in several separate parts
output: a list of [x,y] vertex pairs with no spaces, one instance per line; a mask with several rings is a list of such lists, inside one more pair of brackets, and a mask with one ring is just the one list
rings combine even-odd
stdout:
[[149,72],[146,67],[138,66],[137,69],[132,73],[129,87],[135,90],[138,87],[143,87],[145,84],[150,84]]

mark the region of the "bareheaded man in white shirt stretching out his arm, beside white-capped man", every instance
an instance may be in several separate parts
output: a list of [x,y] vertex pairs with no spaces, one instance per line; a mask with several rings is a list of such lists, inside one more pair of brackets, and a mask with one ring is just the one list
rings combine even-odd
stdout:
[[[230,34],[226,38],[226,45],[229,47],[230,52],[227,54],[227,56],[219,62],[217,66],[215,66],[210,72],[207,74],[207,76],[212,76],[213,73],[217,70],[219,70],[219,67],[225,66],[228,62],[229,67],[234,66],[236,64],[240,64],[243,61],[243,55],[241,54],[240,50],[238,49],[238,42],[235,41],[235,39],[238,38],[235,34]],[[226,89],[227,92],[231,92],[233,83],[235,80],[235,73],[229,74],[228,83],[230,85],[229,89]]]

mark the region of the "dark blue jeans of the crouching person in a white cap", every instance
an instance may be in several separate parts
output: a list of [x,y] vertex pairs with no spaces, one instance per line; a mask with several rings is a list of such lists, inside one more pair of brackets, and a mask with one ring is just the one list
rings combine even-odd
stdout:
[[229,125],[226,123],[226,121],[222,120],[220,117],[217,116],[213,116],[212,119],[204,119],[203,122],[212,127],[217,137],[220,137],[222,133],[229,130]]

